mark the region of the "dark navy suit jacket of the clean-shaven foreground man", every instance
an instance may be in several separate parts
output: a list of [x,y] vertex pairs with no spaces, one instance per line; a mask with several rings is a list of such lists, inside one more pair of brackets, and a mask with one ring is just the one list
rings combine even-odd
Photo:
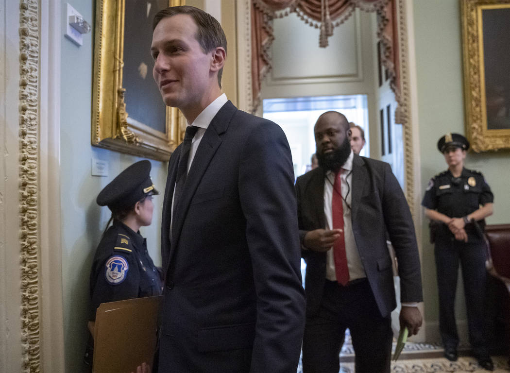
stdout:
[[305,306],[285,134],[227,102],[197,148],[170,239],[180,152],[163,204],[159,371],[295,372]]

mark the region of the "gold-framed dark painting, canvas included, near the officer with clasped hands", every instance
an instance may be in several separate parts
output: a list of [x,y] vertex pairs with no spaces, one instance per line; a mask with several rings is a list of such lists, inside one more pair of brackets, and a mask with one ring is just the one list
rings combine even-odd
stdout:
[[471,148],[475,152],[508,149],[510,53],[500,43],[510,43],[510,32],[505,32],[510,26],[503,23],[501,28],[501,21],[510,17],[510,0],[462,0],[461,12],[466,133]]

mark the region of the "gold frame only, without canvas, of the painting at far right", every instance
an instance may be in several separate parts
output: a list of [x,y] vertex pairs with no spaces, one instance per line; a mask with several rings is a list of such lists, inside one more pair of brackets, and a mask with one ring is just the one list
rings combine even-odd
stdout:
[[[510,7],[510,0],[463,0],[462,47],[466,133],[475,152],[510,148],[510,129],[488,130],[481,11]],[[508,61],[510,63],[510,61]]]

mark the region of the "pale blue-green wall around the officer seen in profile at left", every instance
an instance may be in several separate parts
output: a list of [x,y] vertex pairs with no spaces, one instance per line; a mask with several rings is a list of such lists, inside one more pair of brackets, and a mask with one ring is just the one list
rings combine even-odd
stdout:
[[[62,25],[65,24],[66,3],[62,2]],[[95,9],[92,0],[72,0],[69,4],[93,26]],[[110,218],[110,210],[97,206],[95,198],[121,170],[141,159],[91,146],[93,53],[93,31],[84,35],[81,47],[62,35],[60,188],[66,372],[83,371],[83,354],[88,338],[90,268],[95,248]],[[150,74],[148,77],[151,79]],[[108,177],[91,176],[91,158],[108,161]],[[152,181],[163,191],[167,163],[151,163]],[[152,259],[161,265],[163,195],[155,196],[153,201],[152,225],[142,227],[140,231],[147,238]]]

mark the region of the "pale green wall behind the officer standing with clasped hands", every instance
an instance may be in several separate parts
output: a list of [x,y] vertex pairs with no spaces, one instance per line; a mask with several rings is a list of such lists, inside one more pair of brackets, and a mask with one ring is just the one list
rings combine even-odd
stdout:
[[[421,186],[446,169],[436,143],[446,132],[466,134],[463,100],[461,12],[458,0],[414,0],[414,33],[417,70]],[[495,196],[494,215],[489,224],[510,222],[510,154],[469,153],[466,167],[485,176]],[[422,194],[423,195],[423,194]],[[420,198],[422,197],[420,196]],[[433,247],[429,243],[428,221],[423,223],[423,292],[425,317],[438,321],[438,295]],[[456,313],[465,320],[462,286],[457,291]]]

